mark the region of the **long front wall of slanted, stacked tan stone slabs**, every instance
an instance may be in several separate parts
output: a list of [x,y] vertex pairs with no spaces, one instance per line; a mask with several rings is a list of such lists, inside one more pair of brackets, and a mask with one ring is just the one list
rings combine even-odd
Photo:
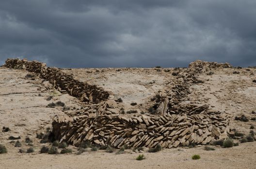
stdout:
[[75,146],[83,141],[119,148],[188,146],[208,144],[227,137],[229,118],[219,112],[192,115],[167,114],[119,115],[89,117],[55,117],[52,123],[56,139]]

